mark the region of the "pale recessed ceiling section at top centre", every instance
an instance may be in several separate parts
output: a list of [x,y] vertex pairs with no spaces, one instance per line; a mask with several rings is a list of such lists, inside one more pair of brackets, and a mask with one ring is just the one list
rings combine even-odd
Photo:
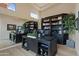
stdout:
[[45,10],[56,3],[33,3],[32,5],[39,11]]

